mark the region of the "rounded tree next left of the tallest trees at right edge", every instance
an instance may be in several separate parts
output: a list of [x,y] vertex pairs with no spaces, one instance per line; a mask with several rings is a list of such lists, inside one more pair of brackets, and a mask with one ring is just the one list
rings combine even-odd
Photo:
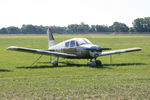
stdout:
[[124,23],[120,23],[120,22],[114,22],[112,26],[110,26],[110,28],[114,31],[114,32],[128,32],[129,28],[126,24]]

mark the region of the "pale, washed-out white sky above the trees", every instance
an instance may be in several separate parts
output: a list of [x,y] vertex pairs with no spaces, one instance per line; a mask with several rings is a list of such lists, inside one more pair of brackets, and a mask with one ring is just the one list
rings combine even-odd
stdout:
[[150,0],[0,0],[0,28],[23,24],[132,26],[136,18],[150,17]]

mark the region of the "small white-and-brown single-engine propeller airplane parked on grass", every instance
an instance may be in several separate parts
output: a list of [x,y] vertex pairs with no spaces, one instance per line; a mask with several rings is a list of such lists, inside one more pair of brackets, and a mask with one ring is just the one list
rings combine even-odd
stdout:
[[100,60],[97,60],[99,56],[106,56],[106,55],[142,50],[141,48],[128,48],[128,49],[120,49],[120,50],[103,52],[103,50],[111,50],[111,48],[103,48],[101,46],[94,45],[86,38],[72,38],[56,44],[50,28],[47,29],[47,35],[48,35],[47,50],[23,48],[17,46],[10,46],[7,49],[48,55],[48,56],[50,55],[56,56],[57,58],[56,61],[51,62],[54,66],[58,66],[59,57],[70,58],[70,59],[89,59],[90,61],[88,62],[88,65],[98,66],[102,64]]

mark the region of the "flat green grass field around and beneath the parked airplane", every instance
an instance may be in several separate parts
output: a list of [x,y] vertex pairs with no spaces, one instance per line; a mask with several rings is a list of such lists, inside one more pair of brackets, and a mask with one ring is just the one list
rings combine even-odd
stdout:
[[[85,37],[103,47],[141,47],[141,52],[99,57],[103,68],[87,60],[60,59],[72,65],[52,67],[48,56],[7,51],[11,45],[47,49],[46,35],[0,35],[0,100],[149,100],[150,35],[55,35],[56,41]],[[54,58],[54,57],[53,57]],[[42,63],[43,62],[43,63]]]

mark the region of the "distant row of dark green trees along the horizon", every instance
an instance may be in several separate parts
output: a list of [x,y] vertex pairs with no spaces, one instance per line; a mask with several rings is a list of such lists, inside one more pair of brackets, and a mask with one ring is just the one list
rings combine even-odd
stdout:
[[[67,27],[51,26],[53,33],[100,33],[100,32],[150,32],[150,17],[137,18],[133,21],[133,27],[128,27],[121,22],[114,22],[113,25],[88,25],[70,24]],[[48,26],[22,25],[21,28],[10,26],[0,29],[0,34],[45,34]]]

